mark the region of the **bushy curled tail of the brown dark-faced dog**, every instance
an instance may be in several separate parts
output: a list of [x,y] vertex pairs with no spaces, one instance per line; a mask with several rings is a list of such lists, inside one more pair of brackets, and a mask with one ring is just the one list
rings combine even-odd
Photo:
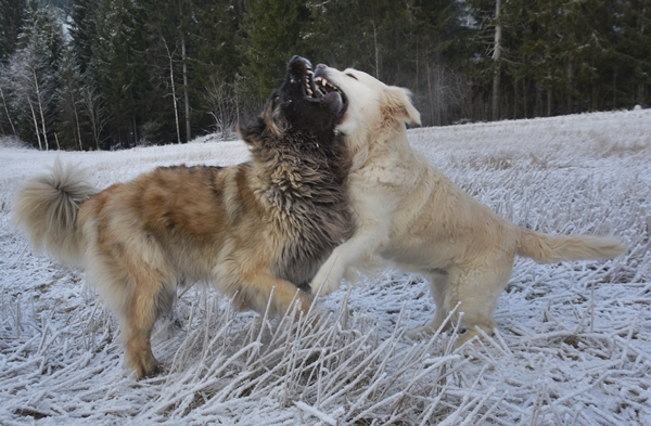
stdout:
[[95,192],[82,170],[64,167],[58,158],[50,175],[34,177],[18,190],[12,220],[25,231],[35,251],[81,266],[85,244],[77,214],[81,202]]

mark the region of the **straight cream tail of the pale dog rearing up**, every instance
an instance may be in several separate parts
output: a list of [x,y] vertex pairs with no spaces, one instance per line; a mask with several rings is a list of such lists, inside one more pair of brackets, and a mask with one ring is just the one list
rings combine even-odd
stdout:
[[626,251],[620,240],[612,236],[551,236],[519,228],[518,254],[541,263],[561,260],[612,259]]

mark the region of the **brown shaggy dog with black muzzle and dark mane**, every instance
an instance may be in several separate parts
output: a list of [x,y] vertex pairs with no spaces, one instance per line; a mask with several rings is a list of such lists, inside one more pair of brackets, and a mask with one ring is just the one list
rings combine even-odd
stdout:
[[[150,344],[176,287],[209,281],[240,309],[284,313],[352,233],[348,157],[334,133],[341,98],[307,99],[295,57],[259,118],[241,126],[252,158],[238,166],[161,167],[104,191],[55,163],[25,183],[13,217],[35,249],[84,267],[119,314],[126,363],[158,369]],[[306,117],[309,117],[307,119]]]

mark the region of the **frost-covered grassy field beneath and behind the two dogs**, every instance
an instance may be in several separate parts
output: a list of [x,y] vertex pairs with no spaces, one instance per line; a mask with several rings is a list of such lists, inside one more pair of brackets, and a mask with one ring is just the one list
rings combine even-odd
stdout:
[[493,338],[411,341],[434,314],[417,275],[382,271],[303,322],[233,312],[202,285],[161,320],[165,372],[137,382],[117,321],[80,271],[9,222],[18,184],[56,156],[104,188],[156,166],[232,165],[242,142],[42,153],[0,145],[0,424],[650,425],[651,109],[410,130],[414,147],[510,220],[614,234],[611,261],[516,260]]

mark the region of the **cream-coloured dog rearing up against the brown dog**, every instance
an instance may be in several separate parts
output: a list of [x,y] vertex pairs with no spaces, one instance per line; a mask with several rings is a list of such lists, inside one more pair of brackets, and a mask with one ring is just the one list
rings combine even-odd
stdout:
[[337,126],[353,155],[350,204],[355,235],[335,248],[315,276],[316,294],[340,286],[349,267],[391,260],[430,281],[435,318],[408,336],[432,333],[458,305],[455,320],[468,332],[458,345],[490,334],[493,311],[515,255],[539,262],[612,258],[625,249],[617,238],[550,236],[492,212],[447,179],[407,141],[405,125],[420,124],[409,92],[355,69],[317,66],[317,85],[327,80],[343,92],[348,109]]

